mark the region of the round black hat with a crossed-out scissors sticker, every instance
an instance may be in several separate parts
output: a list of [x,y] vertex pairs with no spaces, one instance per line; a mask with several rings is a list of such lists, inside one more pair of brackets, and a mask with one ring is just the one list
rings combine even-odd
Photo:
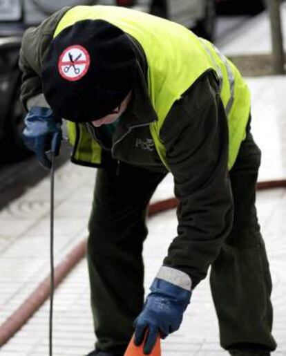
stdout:
[[104,20],[84,20],[53,39],[41,71],[53,111],[73,122],[111,113],[135,77],[135,53],[127,35]]

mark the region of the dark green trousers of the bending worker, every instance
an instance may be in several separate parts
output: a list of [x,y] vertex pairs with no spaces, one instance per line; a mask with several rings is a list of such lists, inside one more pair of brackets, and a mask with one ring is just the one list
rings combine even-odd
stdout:
[[[259,165],[260,151],[248,133],[230,171],[233,229],[211,265],[220,344],[236,356],[267,356],[276,348],[271,335],[271,277],[255,207]],[[88,270],[99,350],[122,356],[133,334],[144,297],[146,207],[165,175],[126,164],[118,172],[113,160],[97,172]]]

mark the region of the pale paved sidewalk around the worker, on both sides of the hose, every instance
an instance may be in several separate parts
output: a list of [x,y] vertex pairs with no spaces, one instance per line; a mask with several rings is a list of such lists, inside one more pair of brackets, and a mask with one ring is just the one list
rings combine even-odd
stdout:
[[[247,30],[254,31],[256,28],[260,31],[266,28],[265,15],[259,18],[259,21],[255,19],[254,24],[249,22]],[[240,35],[236,53],[240,51],[238,44],[244,48],[256,46],[255,43],[249,43],[254,40],[254,35],[248,36],[243,30]],[[286,178],[286,77],[248,78],[247,82],[252,93],[254,136],[263,150],[259,179]],[[95,170],[70,163],[56,173],[56,264],[87,234],[86,223],[94,180]],[[173,183],[171,176],[168,176],[156,191],[153,201],[171,196]],[[282,356],[286,355],[286,189],[259,192],[258,214],[274,280],[274,336],[278,341],[275,355]],[[3,209],[0,212],[0,224],[2,324],[49,273],[49,180],[41,181]],[[175,210],[149,219],[150,233],[144,245],[146,288],[162,263],[166,248],[175,236],[175,229]],[[54,356],[82,356],[93,348],[88,298],[84,259],[55,294]],[[200,283],[193,294],[182,328],[164,341],[162,347],[163,355],[169,356],[227,355],[219,346],[218,325],[207,279]],[[1,348],[0,355],[48,355],[48,303]]]

